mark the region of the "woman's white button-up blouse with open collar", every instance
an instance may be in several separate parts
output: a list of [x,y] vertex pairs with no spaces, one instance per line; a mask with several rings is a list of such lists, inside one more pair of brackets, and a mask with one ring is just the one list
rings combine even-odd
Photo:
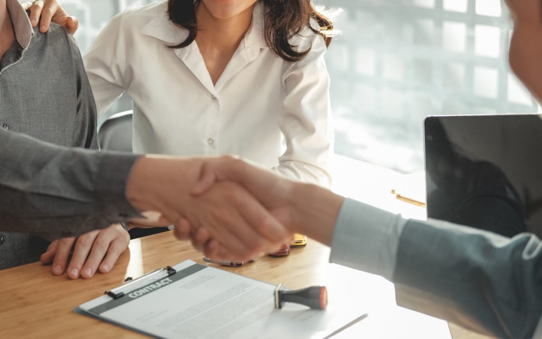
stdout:
[[[167,17],[166,3],[115,16],[85,55],[98,114],[122,92],[133,101],[133,150],[169,155],[235,154],[289,178],[330,184],[333,147],[324,39],[293,39],[304,60],[273,54],[263,36],[263,5],[224,72],[212,84],[188,32]],[[286,145],[286,146],[284,146]]]

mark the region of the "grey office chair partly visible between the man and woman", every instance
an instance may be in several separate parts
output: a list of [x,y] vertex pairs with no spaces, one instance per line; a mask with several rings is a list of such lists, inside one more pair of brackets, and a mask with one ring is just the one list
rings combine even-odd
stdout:
[[[132,111],[114,114],[101,125],[98,132],[100,148],[108,151],[132,152]],[[130,230],[130,238],[167,231],[167,227],[134,228]]]

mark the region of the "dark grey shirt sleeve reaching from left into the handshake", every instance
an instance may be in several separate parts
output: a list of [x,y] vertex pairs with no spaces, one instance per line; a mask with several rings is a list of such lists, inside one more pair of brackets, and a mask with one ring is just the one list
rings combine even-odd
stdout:
[[0,229],[57,239],[139,216],[125,196],[137,158],[0,131]]

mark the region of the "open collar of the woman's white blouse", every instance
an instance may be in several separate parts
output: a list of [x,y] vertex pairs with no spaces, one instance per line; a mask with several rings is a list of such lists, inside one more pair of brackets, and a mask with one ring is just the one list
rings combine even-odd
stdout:
[[[244,36],[244,46],[247,48],[247,52],[248,50],[267,48],[263,32],[263,4],[261,1],[258,1],[254,5],[250,28],[248,29],[247,34]],[[143,29],[141,29],[140,33],[164,41],[167,44],[177,44],[184,41],[186,37],[188,37],[187,30],[179,28],[171,22],[169,16],[167,15],[166,3],[163,3],[160,6],[158,15],[148,24],[146,24]],[[186,52],[188,52],[188,48],[182,48],[181,50],[178,50],[177,55],[182,59]]]

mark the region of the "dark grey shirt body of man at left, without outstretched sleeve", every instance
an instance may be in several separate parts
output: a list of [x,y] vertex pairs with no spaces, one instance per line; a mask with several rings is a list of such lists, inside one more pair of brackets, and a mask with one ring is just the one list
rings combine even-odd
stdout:
[[[16,1],[7,6],[17,39],[0,60],[0,126],[57,145],[98,149],[96,107],[75,40],[56,24],[42,34]],[[36,236],[2,233],[0,269],[37,261],[48,245]]]

